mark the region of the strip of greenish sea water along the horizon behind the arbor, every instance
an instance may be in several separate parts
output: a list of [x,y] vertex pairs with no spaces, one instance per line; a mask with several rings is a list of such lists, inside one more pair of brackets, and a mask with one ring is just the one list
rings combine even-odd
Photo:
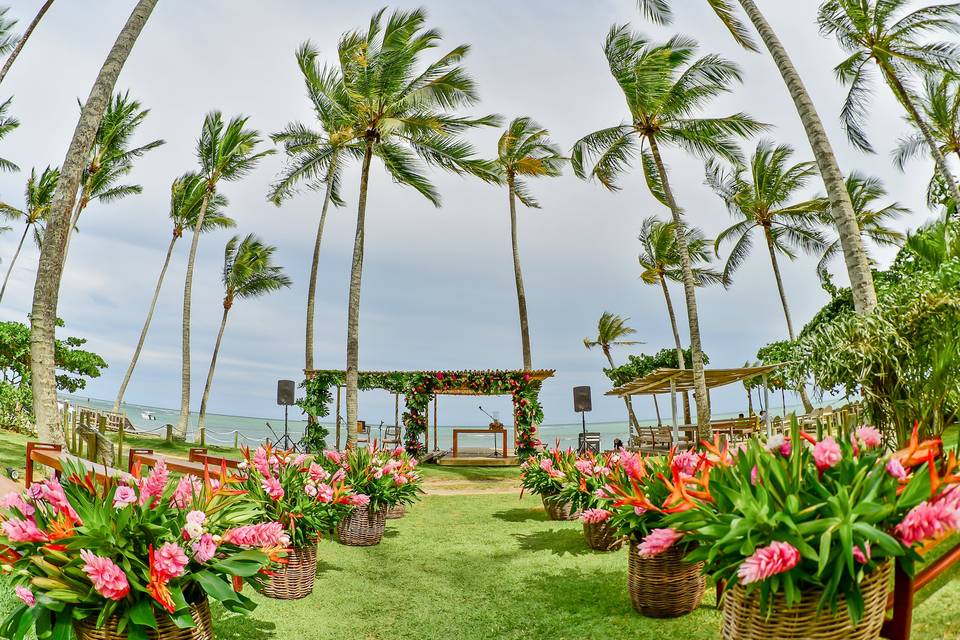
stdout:
[[[66,400],[72,407],[89,407],[100,411],[109,411],[113,408],[113,402],[111,401],[89,398],[87,396],[63,394],[61,395],[60,399]],[[787,405],[786,409],[788,412],[790,412],[801,409],[801,407]],[[127,414],[130,422],[137,427],[138,431],[145,433],[156,433],[160,435],[165,433],[165,424],[170,423],[175,425],[180,417],[179,409],[170,409],[168,407],[155,407],[150,405],[124,403],[122,410]],[[772,407],[772,410],[771,416],[781,415],[782,413],[781,411],[778,411],[776,406]],[[146,412],[150,412],[155,419],[149,420],[144,417]],[[287,423],[290,436],[294,439],[294,441],[297,441],[302,437],[303,430],[307,423],[305,420],[299,419],[301,417],[301,413],[298,407],[291,407],[290,415],[291,417]],[[735,413],[718,414],[714,416],[714,419],[720,420],[723,418],[734,418],[736,415],[737,414]],[[298,419],[294,419],[293,416],[297,416]],[[335,437],[333,421],[321,421],[321,423],[326,425],[327,429],[330,430],[330,436],[327,438],[327,445],[333,446]],[[640,424],[643,426],[652,426],[656,424],[656,421],[641,419]],[[664,424],[669,424],[669,417],[665,417]],[[373,434],[376,437],[378,433],[377,426],[371,426],[373,428]],[[438,425],[437,439],[439,442],[436,444],[440,449],[450,449],[453,446],[453,429],[455,426],[462,427],[465,425]],[[510,425],[508,425],[508,427],[509,426]],[[565,424],[547,423],[540,425],[539,436],[540,439],[549,446],[555,446],[559,443],[559,445],[563,448],[576,447],[577,435],[581,432],[581,429],[582,425],[579,422]],[[591,422],[588,418],[587,431],[600,433],[603,447],[612,448],[614,438],[620,438],[624,442],[627,441],[629,429],[626,420],[615,422]],[[230,416],[216,413],[207,414],[207,442],[211,444],[233,446],[234,438],[236,437],[241,445],[250,446],[257,445],[268,438],[271,441],[276,441],[282,435],[283,412],[282,410],[279,410],[279,407],[277,415],[270,418]],[[197,439],[197,414],[194,412],[190,413],[190,427],[187,433],[187,438],[188,440],[194,441]],[[493,439],[494,438],[492,435],[488,436],[485,434],[461,435],[459,444],[462,447],[492,447]],[[346,431],[344,430],[341,434],[341,445],[345,440]],[[502,440],[498,440],[498,442],[501,441]],[[431,449],[434,448],[434,444],[433,427],[431,426]]]

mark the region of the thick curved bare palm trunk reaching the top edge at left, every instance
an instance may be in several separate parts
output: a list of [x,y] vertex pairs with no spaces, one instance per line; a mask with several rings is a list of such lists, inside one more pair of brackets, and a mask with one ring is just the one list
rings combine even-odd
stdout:
[[80,186],[84,162],[93,145],[93,139],[107,103],[113,94],[117,77],[156,4],[157,0],[137,1],[110,53],[107,54],[80,112],[73,139],[70,141],[67,155],[60,167],[60,180],[50,206],[30,315],[33,413],[36,418],[37,435],[45,442],[64,444],[65,440],[57,415],[54,338],[60,279],[63,276],[63,252],[70,230],[70,214],[77,197],[77,188]]

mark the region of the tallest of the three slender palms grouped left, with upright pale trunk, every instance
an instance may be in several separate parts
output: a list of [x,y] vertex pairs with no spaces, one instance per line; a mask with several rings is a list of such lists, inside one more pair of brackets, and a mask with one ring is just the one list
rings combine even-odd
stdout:
[[273,153],[273,149],[256,151],[260,134],[247,129],[247,118],[235,116],[226,125],[219,111],[212,111],[203,119],[200,139],[197,141],[197,159],[200,162],[200,177],[204,181],[200,210],[193,225],[190,254],[187,257],[187,273],[183,284],[182,368],[180,373],[180,418],[177,421],[176,437],[187,437],[190,421],[190,303],[193,293],[193,266],[197,259],[200,234],[206,224],[207,211],[217,193],[221,180],[233,182],[250,173],[258,162]]

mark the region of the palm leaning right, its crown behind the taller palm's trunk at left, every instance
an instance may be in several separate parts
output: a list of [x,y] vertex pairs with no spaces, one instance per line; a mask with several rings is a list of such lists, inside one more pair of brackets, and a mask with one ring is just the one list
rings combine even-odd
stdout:
[[[123,382],[120,383],[117,399],[113,402],[114,412],[120,411],[123,395],[127,391],[127,385],[130,384],[130,378],[133,377],[133,370],[136,368],[137,362],[140,359],[140,352],[143,351],[143,344],[147,339],[150,323],[153,321],[153,312],[157,308],[160,289],[163,287],[163,279],[167,275],[167,267],[170,266],[170,258],[173,256],[173,247],[177,243],[177,240],[183,237],[185,229],[193,229],[196,226],[197,218],[200,215],[200,207],[203,204],[206,192],[206,181],[202,176],[193,172],[180,176],[173,181],[170,187],[170,220],[173,222],[173,234],[170,237],[170,244],[167,245],[167,255],[163,260],[160,276],[157,278],[157,286],[153,291],[150,308],[147,310],[147,319],[144,320],[143,329],[140,330],[140,339],[137,341],[137,347],[133,351],[133,357],[130,359],[130,366],[127,367],[127,373],[123,376]],[[232,218],[222,213],[226,206],[226,197],[219,193],[214,193],[210,198],[210,202],[207,203],[207,211],[203,217],[201,233],[227,229],[236,225]]]

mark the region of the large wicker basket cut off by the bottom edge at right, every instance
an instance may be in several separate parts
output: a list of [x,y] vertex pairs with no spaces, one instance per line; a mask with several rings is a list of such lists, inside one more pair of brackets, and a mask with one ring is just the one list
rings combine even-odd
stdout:
[[825,607],[817,615],[821,591],[803,592],[803,599],[793,609],[784,605],[782,593],[770,603],[769,616],[760,613],[760,591],[747,595],[746,589],[734,585],[723,597],[723,638],[725,640],[875,640],[880,637],[887,605],[887,586],[890,580],[890,562],[872,571],[860,583],[863,594],[863,618],[854,627],[847,613],[847,602],[837,595],[837,612]]

